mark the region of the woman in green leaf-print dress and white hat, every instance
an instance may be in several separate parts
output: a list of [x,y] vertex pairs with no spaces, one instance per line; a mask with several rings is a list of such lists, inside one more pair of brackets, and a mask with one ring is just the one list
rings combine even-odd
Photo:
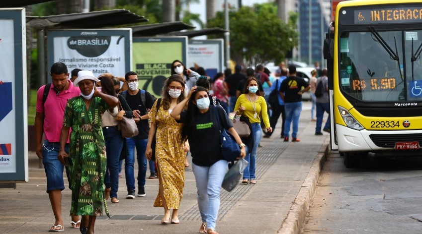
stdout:
[[69,167],[72,182],[71,214],[82,215],[81,233],[93,234],[95,218],[102,215],[102,205],[109,217],[104,198],[106,155],[101,128],[102,114],[117,106],[118,99],[95,88],[98,79],[91,71],[80,71],[74,85],[79,86],[81,96],[68,101],[63,117],[60,137],[59,160],[65,164],[65,143],[72,127]]

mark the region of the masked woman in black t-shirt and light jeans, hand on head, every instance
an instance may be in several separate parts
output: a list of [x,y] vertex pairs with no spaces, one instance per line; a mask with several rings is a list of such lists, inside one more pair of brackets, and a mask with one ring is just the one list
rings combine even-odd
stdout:
[[[186,103],[187,110],[183,111]],[[235,137],[241,146],[240,157],[243,158],[246,156],[245,144],[224,110],[221,107],[210,108],[208,92],[203,87],[193,87],[188,96],[173,108],[170,116],[184,123],[181,138],[182,141],[187,139],[190,145],[198,207],[202,218],[199,233],[218,234],[215,232],[215,222],[220,208],[221,183],[227,172],[227,161],[221,154],[219,122]]]

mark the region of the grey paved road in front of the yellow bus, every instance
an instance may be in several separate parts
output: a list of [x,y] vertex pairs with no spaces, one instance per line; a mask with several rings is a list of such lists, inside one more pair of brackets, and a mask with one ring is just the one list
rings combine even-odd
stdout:
[[421,234],[422,157],[369,158],[346,169],[328,157],[303,234]]

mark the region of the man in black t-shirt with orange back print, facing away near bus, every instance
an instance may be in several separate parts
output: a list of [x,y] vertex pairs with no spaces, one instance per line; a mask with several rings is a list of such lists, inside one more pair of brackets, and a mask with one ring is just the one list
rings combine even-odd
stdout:
[[[289,74],[281,82],[280,96],[284,102],[286,121],[284,124],[284,141],[289,141],[290,124],[293,122],[292,142],[300,141],[297,138],[299,128],[299,117],[302,111],[302,93],[307,92],[311,86],[302,77],[296,76],[296,66],[289,66]],[[304,89],[302,90],[302,87]]]

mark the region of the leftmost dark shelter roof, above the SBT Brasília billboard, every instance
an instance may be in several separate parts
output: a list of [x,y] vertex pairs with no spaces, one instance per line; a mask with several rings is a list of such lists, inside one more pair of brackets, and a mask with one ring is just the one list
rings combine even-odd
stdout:
[[38,29],[103,28],[147,21],[148,19],[144,18],[144,16],[134,14],[125,9],[49,16],[26,16],[26,22]]

